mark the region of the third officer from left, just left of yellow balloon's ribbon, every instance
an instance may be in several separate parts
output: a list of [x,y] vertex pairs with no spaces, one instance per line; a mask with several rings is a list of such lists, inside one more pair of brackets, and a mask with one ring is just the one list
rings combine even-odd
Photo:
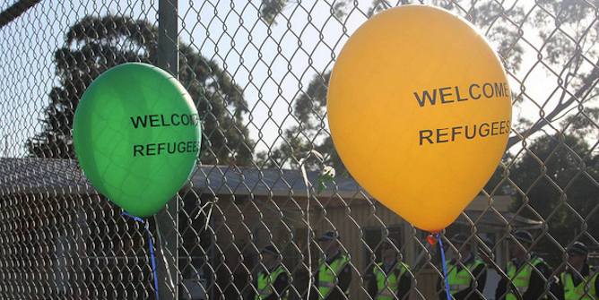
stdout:
[[399,260],[395,238],[381,243],[382,261],[374,267],[374,279],[369,282],[369,295],[377,300],[408,299],[412,287],[410,267]]

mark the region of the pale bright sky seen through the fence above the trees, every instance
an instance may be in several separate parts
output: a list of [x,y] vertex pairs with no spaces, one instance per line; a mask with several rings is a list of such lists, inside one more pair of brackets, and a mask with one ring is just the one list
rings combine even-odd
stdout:
[[[213,5],[215,3],[215,5]],[[370,1],[360,2],[343,23],[330,16],[328,1],[290,4],[267,26],[258,20],[259,1],[179,1],[180,38],[193,44],[203,56],[215,60],[244,89],[250,113],[246,117],[256,152],[273,148],[282,130],[295,124],[290,109],[293,99],[316,74],[329,71],[351,33],[367,20]],[[0,9],[8,5],[2,4]],[[119,13],[155,22],[158,1],[120,2],[43,1],[17,21],[0,30],[0,156],[25,155],[22,145],[41,131],[39,118],[48,104],[48,92],[57,85],[53,52],[64,47],[64,33],[87,14]],[[529,34],[532,30],[525,30]],[[534,37],[527,37],[534,41]],[[534,47],[541,47],[540,45]],[[531,47],[533,49],[533,47]],[[558,83],[538,64],[535,52],[525,56],[525,72],[510,78],[512,90],[534,99],[549,99]],[[540,78],[543,80],[539,81]],[[538,84],[537,82],[543,82]],[[518,115],[538,118],[539,108],[525,102]],[[7,148],[6,145],[9,145]]]

